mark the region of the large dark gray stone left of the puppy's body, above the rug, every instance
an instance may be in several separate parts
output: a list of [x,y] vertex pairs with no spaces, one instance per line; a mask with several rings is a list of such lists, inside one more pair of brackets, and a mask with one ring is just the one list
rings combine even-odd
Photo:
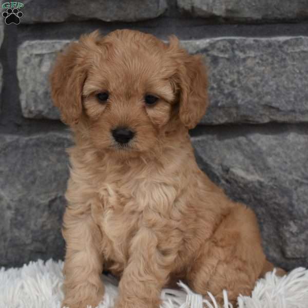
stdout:
[[0,135],[0,267],[64,255],[67,133]]

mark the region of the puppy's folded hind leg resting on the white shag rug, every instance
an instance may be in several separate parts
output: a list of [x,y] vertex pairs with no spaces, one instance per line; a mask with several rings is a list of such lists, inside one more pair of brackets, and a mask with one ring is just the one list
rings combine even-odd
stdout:
[[265,256],[255,214],[235,204],[206,242],[192,265],[187,282],[197,293],[213,294],[222,302],[226,290],[235,303],[239,294],[250,295],[262,272]]

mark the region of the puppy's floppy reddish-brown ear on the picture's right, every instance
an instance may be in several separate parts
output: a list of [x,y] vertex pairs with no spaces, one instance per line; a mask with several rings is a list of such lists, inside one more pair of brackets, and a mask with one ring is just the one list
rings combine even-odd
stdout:
[[194,128],[205,114],[208,106],[208,82],[201,55],[189,55],[179,47],[179,40],[170,37],[169,46],[177,57],[177,88],[179,90],[179,117],[188,128]]

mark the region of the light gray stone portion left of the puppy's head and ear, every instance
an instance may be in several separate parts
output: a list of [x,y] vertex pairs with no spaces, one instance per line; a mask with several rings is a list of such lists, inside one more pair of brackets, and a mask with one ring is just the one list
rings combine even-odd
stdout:
[[49,89],[49,72],[57,52],[69,41],[26,41],[17,50],[20,101],[26,118],[59,119]]

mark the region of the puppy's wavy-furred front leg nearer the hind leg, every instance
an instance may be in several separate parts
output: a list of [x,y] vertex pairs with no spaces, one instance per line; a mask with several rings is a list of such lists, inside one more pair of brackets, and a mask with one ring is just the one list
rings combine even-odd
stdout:
[[129,261],[119,284],[117,308],[158,308],[176,258],[164,254],[154,230],[142,227],[132,239]]

